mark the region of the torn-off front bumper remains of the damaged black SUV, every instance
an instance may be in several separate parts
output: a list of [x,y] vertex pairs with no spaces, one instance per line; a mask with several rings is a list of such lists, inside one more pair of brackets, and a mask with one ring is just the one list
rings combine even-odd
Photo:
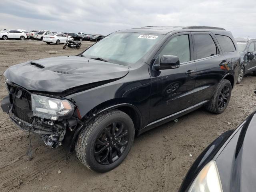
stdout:
[[[17,87],[17,89],[21,88]],[[42,142],[51,148],[62,145],[66,132],[69,135],[73,134],[72,130],[76,129],[79,122],[74,115],[55,121],[33,116],[29,96],[19,99],[16,97],[16,92],[14,90],[9,92],[9,95],[2,100],[1,108],[22,131],[36,134]]]

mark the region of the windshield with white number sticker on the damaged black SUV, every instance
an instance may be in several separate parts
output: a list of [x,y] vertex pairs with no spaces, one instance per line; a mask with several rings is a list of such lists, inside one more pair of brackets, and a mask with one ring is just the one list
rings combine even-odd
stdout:
[[83,52],[86,58],[101,58],[130,66],[140,60],[164,35],[113,33]]

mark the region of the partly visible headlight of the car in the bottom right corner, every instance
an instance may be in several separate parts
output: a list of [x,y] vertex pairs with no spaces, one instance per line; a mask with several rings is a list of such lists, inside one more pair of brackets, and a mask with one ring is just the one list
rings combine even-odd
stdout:
[[215,161],[210,161],[196,176],[188,192],[223,192]]

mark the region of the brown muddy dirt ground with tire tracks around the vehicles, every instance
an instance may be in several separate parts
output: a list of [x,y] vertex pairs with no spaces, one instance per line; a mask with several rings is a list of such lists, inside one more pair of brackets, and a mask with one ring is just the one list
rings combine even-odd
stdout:
[[[75,55],[91,44],[83,41],[81,49],[63,50],[63,45],[35,40],[0,40],[0,100],[7,94],[2,74],[9,66]],[[62,148],[48,148],[33,135],[33,158],[28,158],[28,133],[22,132],[0,110],[0,191],[176,192],[204,148],[226,130],[236,128],[256,109],[255,86],[256,77],[248,74],[234,88],[223,114],[199,109],[179,118],[177,123],[169,122],[138,136],[124,162],[104,174],[91,172],[75,154],[67,156]]]

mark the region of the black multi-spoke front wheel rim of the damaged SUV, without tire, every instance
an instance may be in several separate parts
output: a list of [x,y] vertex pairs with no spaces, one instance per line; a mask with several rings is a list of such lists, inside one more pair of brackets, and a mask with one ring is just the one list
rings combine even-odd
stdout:
[[123,122],[112,122],[98,136],[94,157],[98,163],[108,165],[120,158],[129,141],[129,132]]

